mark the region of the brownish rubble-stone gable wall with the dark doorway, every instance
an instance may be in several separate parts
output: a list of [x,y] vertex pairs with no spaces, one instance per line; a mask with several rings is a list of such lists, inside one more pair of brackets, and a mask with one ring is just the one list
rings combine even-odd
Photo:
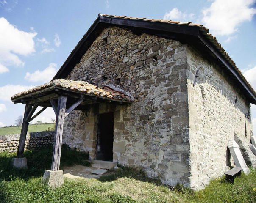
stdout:
[[63,143],[89,151],[94,159],[97,114],[114,111],[113,160],[140,167],[165,184],[189,187],[186,48],[178,41],[117,27],[103,30],[67,78],[114,85],[135,100],[72,112],[65,120]]

